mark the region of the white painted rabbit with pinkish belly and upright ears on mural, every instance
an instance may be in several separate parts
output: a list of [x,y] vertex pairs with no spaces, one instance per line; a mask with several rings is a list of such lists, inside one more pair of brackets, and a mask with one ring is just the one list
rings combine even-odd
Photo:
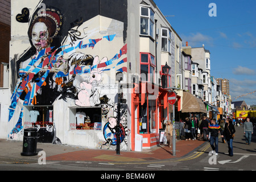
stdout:
[[80,90],[78,94],[78,100],[75,101],[76,105],[93,106],[96,104],[100,104],[100,92],[99,90],[97,90],[96,86],[101,84],[101,73],[106,67],[106,61],[108,61],[106,57],[104,57],[101,61],[99,61],[98,56],[94,57],[89,80],[82,81],[80,84],[80,88],[82,90]]

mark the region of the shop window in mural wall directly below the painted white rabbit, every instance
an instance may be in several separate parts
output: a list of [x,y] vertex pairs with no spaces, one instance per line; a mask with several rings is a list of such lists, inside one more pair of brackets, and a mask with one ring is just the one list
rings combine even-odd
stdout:
[[72,108],[71,130],[101,130],[101,107]]

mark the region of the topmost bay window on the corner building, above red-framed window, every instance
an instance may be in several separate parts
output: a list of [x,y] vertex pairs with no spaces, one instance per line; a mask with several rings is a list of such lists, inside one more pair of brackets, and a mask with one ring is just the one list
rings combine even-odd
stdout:
[[141,6],[141,34],[154,38],[154,11],[150,7]]

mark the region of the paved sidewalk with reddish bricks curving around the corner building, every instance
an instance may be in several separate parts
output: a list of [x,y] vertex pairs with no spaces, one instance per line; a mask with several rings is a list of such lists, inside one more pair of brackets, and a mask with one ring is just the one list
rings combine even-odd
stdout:
[[[163,145],[151,149],[143,149],[142,152],[120,151],[120,155],[117,155],[115,150],[90,149],[51,143],[38,143],[37,151],[46,152],[46,161],[142,162],[181,158],[204,143],[199,140],[176,140],[176,156],[172,156],[172,148]],[[22,144],[22,141],[0,139],[0,163],[2,161],[13,161],[13,163],[38,162],[38,155],[20,155],[23,149]]]

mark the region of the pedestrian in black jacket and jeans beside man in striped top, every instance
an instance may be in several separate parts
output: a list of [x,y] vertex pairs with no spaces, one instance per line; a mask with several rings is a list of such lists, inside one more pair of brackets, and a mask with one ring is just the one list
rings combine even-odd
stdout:
[[233,156],[233,139],[234,133],[236,133],[236,129],[234,128],[233,121],[230,118],[226,119],[225,127],[224,127],[224,136],[226,142],[229,147],[229,156]]

